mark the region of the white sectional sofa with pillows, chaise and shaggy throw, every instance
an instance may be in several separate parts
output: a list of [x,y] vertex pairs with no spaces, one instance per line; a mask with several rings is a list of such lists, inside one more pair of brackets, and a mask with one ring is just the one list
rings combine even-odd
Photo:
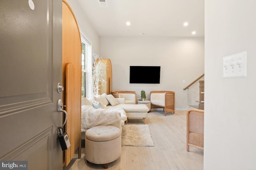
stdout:
[[123,126],[125,121],[128,123],[128,118],[142,118],[146,123],[148,111],[146,105],[125,104],[124,98],[114,98],[111,94],[84,98],[82,99],[82,132],[98,125],[120,123]]

